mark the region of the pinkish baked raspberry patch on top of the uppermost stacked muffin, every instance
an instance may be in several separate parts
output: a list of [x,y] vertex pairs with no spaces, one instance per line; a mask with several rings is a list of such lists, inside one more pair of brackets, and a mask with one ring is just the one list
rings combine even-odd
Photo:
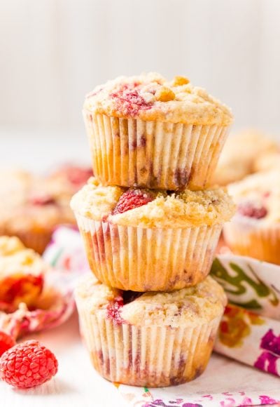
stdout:
[[153,103],[147,102],[137,90],[137,84],[123,85],[116,92],[111,93],[111,98],[116,100],[118,110],[130,116],[136,116],[139,110],[151,109]]

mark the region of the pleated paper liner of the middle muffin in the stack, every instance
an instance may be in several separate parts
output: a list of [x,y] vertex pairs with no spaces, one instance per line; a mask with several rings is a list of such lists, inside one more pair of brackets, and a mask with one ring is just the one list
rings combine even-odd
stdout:
[[222,227],[145,229],[76,218],[97,279],[132,291],[173,291],[205,279]]

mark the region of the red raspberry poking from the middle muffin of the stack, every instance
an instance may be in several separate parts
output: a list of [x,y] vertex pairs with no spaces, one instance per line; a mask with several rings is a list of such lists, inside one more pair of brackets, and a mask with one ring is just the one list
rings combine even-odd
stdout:
[[120,196],[116,208],[113,210],[112,215],[130,211],[130,209],[138,208],[153,201],[154,197],[144,189],[127,189],[127,191]]

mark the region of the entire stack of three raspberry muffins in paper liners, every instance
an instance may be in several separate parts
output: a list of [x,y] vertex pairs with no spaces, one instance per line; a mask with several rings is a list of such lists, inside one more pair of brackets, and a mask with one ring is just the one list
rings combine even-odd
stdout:
[[120,77],[84,105],[95,178],[71,207],[94,275],[76,289],[94,368],[129,385],[192,380],[225,306],[207,276],[235,206],[207,189],[232,115],[188,79]]

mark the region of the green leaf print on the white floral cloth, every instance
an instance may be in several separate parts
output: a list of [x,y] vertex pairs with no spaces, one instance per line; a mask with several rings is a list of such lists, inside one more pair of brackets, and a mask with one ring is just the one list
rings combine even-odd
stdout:
[[[248,286],[251,286],[253,291],[255,291],[256,297],[270,297],[267,298],[267,300],[269,300],[269,302],[274,305],[274,307],[279,304],[279,300],[274,290],[271,287],[267,286],[267,284],[265,284],[265,282],[262,281],[255,274],[253,268],[250,265],[247,265],[247,267],[250,269],[255,279],[252,279],[250,276],[248,276],[248,274],[244,272],[244,269],[241,269],[241,267],[239,267],[239,265],[237,265],[236,263],[230,262],[229,266],[232,271],[235,272],[234,276],[232,276],[228,272],[228,270],[222,265],[221,261],[218,260],[218,258],[214,260],[211,268],[212,276],[218,279],[219,283],[221,283],[227,293],[232,295],[244,295],[248,291],[248,288],[246,287],[246,284],[248,284]],[[260,302],[258,302],[258,298],[255,298],[254,296],[252,300],[248,300],[246,302],[238,302],[237,300],[231,300],[231,302],[237,305],[241,304],[243,307],[246,307],[248,309],[261,309],[262,305],[260,304]]]

